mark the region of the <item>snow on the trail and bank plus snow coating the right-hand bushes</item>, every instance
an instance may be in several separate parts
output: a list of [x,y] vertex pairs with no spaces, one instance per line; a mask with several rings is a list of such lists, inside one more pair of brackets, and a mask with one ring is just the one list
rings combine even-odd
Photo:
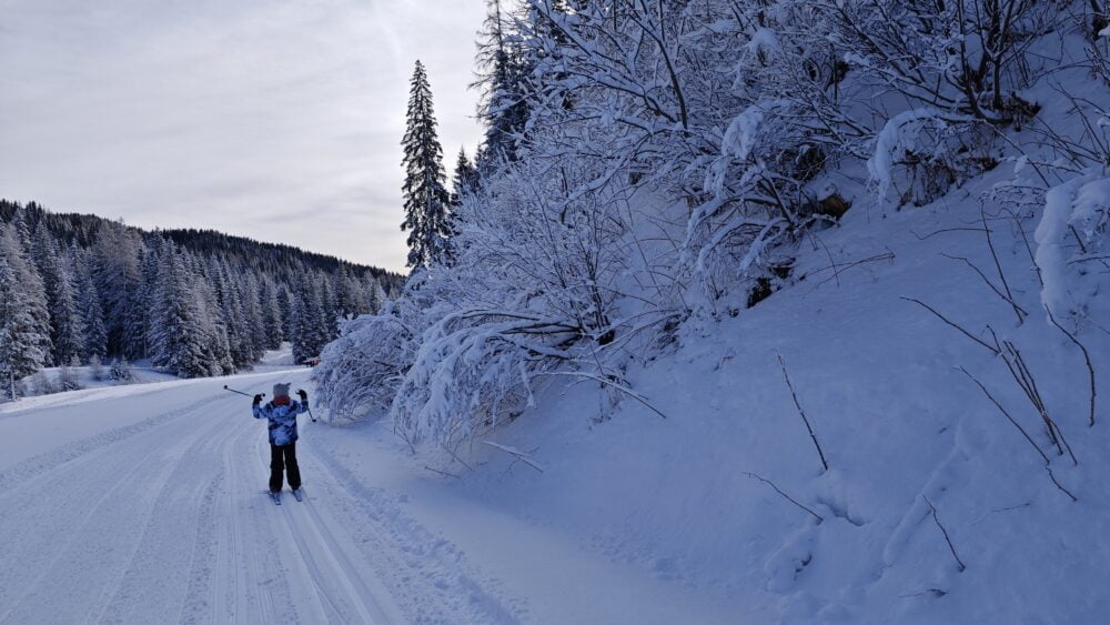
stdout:
[[[1061,91],[1106,110],[1104,85],[1067,69],[1088,43],[1070,37],[1056,41],[1068,62],[1021,92],[1045,104],[1036,120],[1000,124],[999,145],[968,132],[957,147],[947,131],[968,120],[864,93],[876,95],[867,172],[866,154],[846,152],[811,185],[869,179],[886,200],[904,173],[927,178],[929,193],[875,219],[848,210],[768,241],[774,218],[718,214],[724,195],[693,211],[665,184],[607,196],[619,168],[587,172],[574,198],[542,163],[493,180],[504,212],[463,231],[486,229],[470,241],[491,254],[463,259],[487,264],[417,273],[386,316],[351,321],[325,351],[321,387],[363,394],[302,425],[303,504],[265,500],[264,427],[222,390],[307,386],[306,369],[265,369],[287,366],[284,354],[246,375],[0,405],[0,562],[20,563],[0,567],[0,622],[1104,622],[1110,187],[1104,164],[1069,160],[1036,125],[1090,132],[1056,105]],[[1046,46],[1030,57],[1056,62]],[[849,82],[879,62],[846,58]],[[728,160],[794,145],[759,102],[713,127],[729,121],[709,143]],[[990,151],[968,161],[971,148]],[[896,173],[912,169],[907,150],[945,165],[939,178]],[[705,190],[735,191],[723,185],[763,165],[710,168]],[[619,235],[578,249],[604,265],[579,272],[574,231],[602,222]],[[561,230],[548,246],[512,232],[533,226]],[[635,239],[648,226],[645,253]],[[683,312],[653,311],[665,289],[637,281],[674,269],[683,231],[706,231],[687,251],[712,251],[741,226],[756,232],[717,264],[788,252],[781,289],[750,308],[744,289],[687,306],[683,275],[669,285]],[[642,264],[609,258],[614,242],[635,243]],[[707,269],[706,254],[689,264]],[[548,270],[567,286],[553,291]],[[567,321],[603,308],[614,342],[589,334],[605,324]],[[434,323],[410,324],[427,311]],[[658,334],[614,322],[653,312],[678,321]],[[575,342],[596,367],[564,346]],[[374,420],[383,397],[395,423]]]

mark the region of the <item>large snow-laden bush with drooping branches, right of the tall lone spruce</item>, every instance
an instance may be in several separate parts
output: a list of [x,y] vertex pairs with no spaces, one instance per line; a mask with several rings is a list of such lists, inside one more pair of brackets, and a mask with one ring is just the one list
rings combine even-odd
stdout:
[[[454,447],[516,415],[536,376],[601,373],[637,332],[622,316],[626,199],[616,190],[562,198],[604,170],[527,153],[460,208],[456,264],[410,281],[406,296],[426,302],[423,331],[391,413],[413,444]],[[649,306],[635,321],[666,314]]]

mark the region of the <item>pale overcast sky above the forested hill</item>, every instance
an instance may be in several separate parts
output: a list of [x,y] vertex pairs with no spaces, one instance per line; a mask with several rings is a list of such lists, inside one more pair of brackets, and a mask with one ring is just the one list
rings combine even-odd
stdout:
[[0,196],[402,270],[412,64],[450,173],[483,4],[0,0]]

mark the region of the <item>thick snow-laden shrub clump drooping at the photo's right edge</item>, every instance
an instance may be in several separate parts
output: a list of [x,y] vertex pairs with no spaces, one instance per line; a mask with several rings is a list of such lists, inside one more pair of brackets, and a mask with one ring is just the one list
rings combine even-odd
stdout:
[[1036,240],[1045,306],[1057,320],[1106,329],[1110,319],[1110,177],[1106,171],[1099,168],[1050,189]]

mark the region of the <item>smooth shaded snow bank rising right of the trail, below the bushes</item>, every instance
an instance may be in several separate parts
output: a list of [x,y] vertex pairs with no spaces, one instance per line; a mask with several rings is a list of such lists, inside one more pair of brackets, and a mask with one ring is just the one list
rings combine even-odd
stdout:
[[[975,199],[1009,175],[999,168],[922,209],[849,212],[803,245],[795,275],[805,278],[795,286],[736,319],[695,320],[676,347],[632,366],[633,387],[666,419],[629,399],[613,409],[589,382],[549,386],[538,410],[495,438],[543,471],[475,444],[470,468],[450,458],[434,465],[462,476],[442,477],[455,484],[451,497],[694,592],[706,607],[693,621],[1102,619],[1110,413],[1100,404],[1089,425],[1082,353],[1040,308],[1018,225],[1031,238],[1037,221],[987,218],[1015,301],[1029,313],[1021,324],[973,269],[946,256],[967,258],[1002,289]],[[985,341],[988,325],[1011,341],[1078,466],[1058,455],[1000,356],[908,299]],[[1103,389],[1110,349],[1104,336],[1084,340]],[[960,367],[1043,450],[1062,488]],[[354,456],[366,448],[363,436],[336,444]],[[507,532],[485,548],[468,528],[445,521],[443,531],[474,541],[475,558],[534,553]],[[613,616],[579,596],[565,602]],[[620,602],[614,595],[603,606]]]

